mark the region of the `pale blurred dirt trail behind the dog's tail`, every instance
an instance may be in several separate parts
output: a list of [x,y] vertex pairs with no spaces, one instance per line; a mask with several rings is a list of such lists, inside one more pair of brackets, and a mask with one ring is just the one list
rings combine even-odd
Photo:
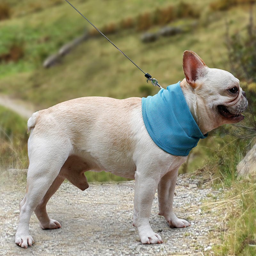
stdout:
[[32,106],[32,104],[26,103],[22,100],[12,99],[4,94],[0,94],[0,105],[11,109],[26,119],[28,119],[35,112],[35,108]]

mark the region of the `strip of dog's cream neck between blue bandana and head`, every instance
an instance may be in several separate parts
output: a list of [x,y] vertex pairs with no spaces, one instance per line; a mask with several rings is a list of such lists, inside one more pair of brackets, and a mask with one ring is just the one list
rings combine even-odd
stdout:
[[194,117],[198,127],[203,134],[210,132],[216,127],[210,127],[211,111],[205,108],[205,102],[201,97],[198,97],[195,90],[187,83],[186,78],[180,82],[180,87],[187,101],[188,107],[192,116]]

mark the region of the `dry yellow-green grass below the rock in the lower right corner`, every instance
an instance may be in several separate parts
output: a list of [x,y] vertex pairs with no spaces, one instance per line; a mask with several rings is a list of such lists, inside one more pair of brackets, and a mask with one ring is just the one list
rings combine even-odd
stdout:
[[[256,185],[255,177],[236,180],[226,193],[226,210],[222,244],[214,247],[214,255],[254,256],[256,254]],[[236,196],[234,196],[236,195]]]

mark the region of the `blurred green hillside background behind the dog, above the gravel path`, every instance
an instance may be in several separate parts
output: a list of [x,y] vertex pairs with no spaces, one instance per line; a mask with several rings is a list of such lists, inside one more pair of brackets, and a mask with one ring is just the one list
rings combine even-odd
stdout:
[[[71,3],[164,88],[183,79],[184,50],[197,52],[210,68],[226,69],[240,79],[250,102],[246,119],[211,132],[180,168],[190,172],[206,168],[210,161],[230,177],[236,175],[236,164],[255,138],[255,1]],[[64,0],[1,0],[1,169],[28,167],[26,122],[36,110],[77,97],[122,99],[157,92]],[[109,179],[120,180],[112,174],[88,173],[89,181]]]

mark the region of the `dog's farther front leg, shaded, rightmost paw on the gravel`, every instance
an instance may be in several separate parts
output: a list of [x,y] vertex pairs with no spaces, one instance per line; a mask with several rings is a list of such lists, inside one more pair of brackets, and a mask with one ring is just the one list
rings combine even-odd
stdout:
[[164,216],[170,228],[186,228],[190,226],[187,220],[179,219],[173,212],[173,196],[178,176],[178,168],[166,173],[157,187],[159,215]]

